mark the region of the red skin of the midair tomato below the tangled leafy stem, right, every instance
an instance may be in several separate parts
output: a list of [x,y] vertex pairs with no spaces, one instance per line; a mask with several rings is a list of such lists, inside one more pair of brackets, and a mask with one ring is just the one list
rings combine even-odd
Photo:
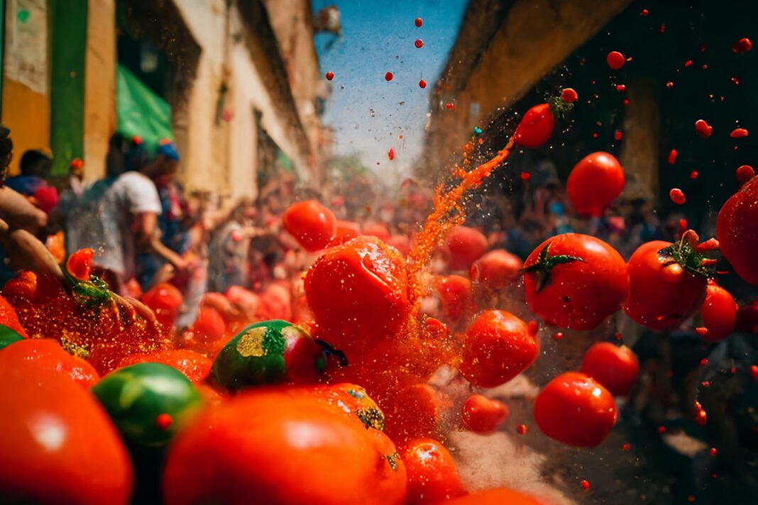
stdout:
[[672,329],[691,316],[703,304],[706,279],[684,270],[659,251],[671,242],[647,242],[637,248],[628,262],[629,298],[624,312],[632,320],[650,329]]

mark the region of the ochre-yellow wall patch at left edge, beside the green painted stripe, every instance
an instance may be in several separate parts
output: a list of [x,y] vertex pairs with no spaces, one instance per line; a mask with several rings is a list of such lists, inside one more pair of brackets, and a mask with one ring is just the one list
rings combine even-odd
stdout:
[[50,98],[14,80],[3,78],[2,123],[11,129],[11,174],[27,149],[50,149]]

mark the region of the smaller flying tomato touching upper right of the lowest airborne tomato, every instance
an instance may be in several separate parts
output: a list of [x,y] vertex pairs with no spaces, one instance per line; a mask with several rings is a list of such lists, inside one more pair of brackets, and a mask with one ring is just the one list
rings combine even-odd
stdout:
[[625,345],[599,342],[584,354],[581,371],[600,382],[612,395],[626,396],[637,380],[640,363],[637,355]]

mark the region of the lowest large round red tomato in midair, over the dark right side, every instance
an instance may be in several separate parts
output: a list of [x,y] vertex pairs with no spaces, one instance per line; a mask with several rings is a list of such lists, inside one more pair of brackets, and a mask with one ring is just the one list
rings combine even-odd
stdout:
[[616,421],[613,396],[595,379],[578,372],[557,376],[534,401],[534,420],[542,432],[576,447],[605,440]]

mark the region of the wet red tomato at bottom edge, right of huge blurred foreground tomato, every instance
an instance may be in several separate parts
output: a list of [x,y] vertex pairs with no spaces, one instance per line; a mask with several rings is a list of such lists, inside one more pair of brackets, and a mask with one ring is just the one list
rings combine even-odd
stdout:
[[408,472],[408,505],[437,503],[465,493],[453,456],[434,438],[414,438],[400,455]]

